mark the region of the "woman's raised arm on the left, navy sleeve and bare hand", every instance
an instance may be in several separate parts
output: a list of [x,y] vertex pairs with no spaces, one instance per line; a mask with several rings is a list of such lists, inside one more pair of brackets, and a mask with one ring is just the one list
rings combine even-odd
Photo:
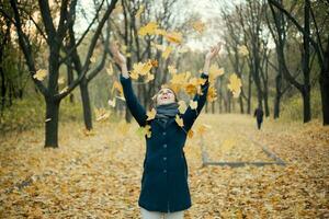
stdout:
[[139,126],[146,125],[146,111],[138,102],[128,74],[126,58],[120,53],[117,44],[111,45],[111,51],[115,62],[121,67],[120,82],[123,87],[126,105]]

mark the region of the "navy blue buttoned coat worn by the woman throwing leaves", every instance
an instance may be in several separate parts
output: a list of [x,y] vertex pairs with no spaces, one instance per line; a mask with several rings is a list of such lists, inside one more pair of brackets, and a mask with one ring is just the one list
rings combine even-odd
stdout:
[[120,74],[127,107],[140,127],[150,125],[151,137],[146,138],[146,155],[141,176],[141,191],[138,205],[150,211],[173,212],[185,210],[192,206],[188,184],[188,164],[183,147],[186,134],[198,116],[206,102],[208,90],[208,76],[201,74],[206,79],[202,85],[202,95],[195,94],[196,110],[190,106],[181,115],[183,127],[174,119],[161,126],[158,119],[147,120],[145,108],[139,104],[134,94],[131,78]]

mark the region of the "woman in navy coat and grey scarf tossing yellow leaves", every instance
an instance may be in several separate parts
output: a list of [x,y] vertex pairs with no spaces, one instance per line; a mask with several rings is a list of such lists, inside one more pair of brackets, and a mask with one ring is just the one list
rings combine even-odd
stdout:
[[[156,117],[147,120],[146,111],[134,94],[126,58],[120,53],[117,45],[111,46],[114,60],[121,67],[120,80],[127,107],[140,127],[149,125],[151,129],[151,136],[146,136],[146,155],[138,199],[144,219],[158,219],[162,216],[181,219],[184,210],[192,206],[183,147],[188,131],[205,104],[211,60],[219,49],[220,44],[212,47],[205,56],[201,78],[206,81],[201,87],[202,94],[195,94],[193,99],[197,102],[195,110],[189,106],[184,114],[180,114],[175,93],[171,89],[162,88],[154,99]],[[183,119],[182,127],[175,123],[177,115]]]

